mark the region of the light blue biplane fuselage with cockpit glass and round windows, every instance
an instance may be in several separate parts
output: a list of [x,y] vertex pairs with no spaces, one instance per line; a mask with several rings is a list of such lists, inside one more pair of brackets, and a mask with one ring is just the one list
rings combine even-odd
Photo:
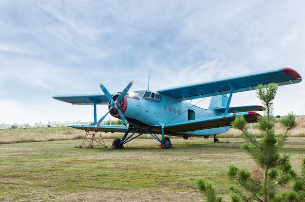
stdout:
[[[126,96],[124,116],[135,127],[160,128],[167,124],[181,123],[199,118],[218,116],[213,109],[204,109],[187,101],[179,101],[161,96],[154,91],[136,91]],[[119,116],[114,116],[119,118]],[[215,135],[228,131],[229,127],[220,127],[172,135]]]

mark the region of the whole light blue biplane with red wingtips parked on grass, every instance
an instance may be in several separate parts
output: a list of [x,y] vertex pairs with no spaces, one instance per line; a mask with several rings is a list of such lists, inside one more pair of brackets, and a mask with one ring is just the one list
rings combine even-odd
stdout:
[[[94,106],[95,131],[125,133],[122,139],[114,139],[113,148],[123,145],[139,135],[150,134],[163,148],[171,148],[168,135],[214,136],[229,130],[236,116],[243,115],[248,123],[256,122],[262,106],[230,107],[233,93],[256,89],[258,84],[296,84],[302,81],[300,74],[292,68],[280,68],[226,79],[161,89],[139,90],[128,93],[133,81],[125,89],[111,94],[100,84],[104,94],[56,95],[54,99],[72,104]],[[227,96],[229,94],[229,97]],[[208,109],[195,106],[189,100],[211,97]],[[107,104],[109,111],[99,120],[96,105]],[[124,125],[100,125],[107,114],[123,120]],[[73,124],[72,128],[87,130],[90,125]],[[160,139],[157,135],[161,135]],[[167,135],[167,136],[165,136]]]

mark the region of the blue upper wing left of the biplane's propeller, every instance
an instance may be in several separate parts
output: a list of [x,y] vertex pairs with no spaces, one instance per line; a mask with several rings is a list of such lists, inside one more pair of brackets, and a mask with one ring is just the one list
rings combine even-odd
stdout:
[[108,104],[109,102],[104,94],[55,95],[52,98],[72,104],[93,104],[94,102],[96,104]]

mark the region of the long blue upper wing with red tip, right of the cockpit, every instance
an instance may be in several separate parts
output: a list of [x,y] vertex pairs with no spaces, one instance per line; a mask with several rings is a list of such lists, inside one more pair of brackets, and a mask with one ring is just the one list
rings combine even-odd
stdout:
[[258,84],[277,83],[279,85],[296,84],[302,81],[300,74],[292,68],[280,68],[254,74],[214,80],[210,82],[189,84],[158,90],[159,94],[181,101],[210,97],[230,93],[255,90]]

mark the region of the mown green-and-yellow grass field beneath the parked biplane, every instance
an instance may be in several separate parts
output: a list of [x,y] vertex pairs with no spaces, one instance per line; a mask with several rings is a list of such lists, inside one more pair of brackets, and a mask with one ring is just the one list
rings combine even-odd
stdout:
[[[40,130],[53,139],[75,138],[75,130]],[[212,181],[219,196],[229,201],[229,164],[255,167],[240,149],[241,138],[222,137],[217,144],[212,138],[171,138],[174,149],[169,150],[158,149],[152,138],[135,139],[125,150],[112,150],[114,137],[105,139],[107,149],[79,149],[81,139],[17,141],[20,135],[14,139],[21,143],[0,144],[0,201],[199,202],[203,199],[194,184],[199,177]],[[0,134],[2,141],[4,137]],[[299,172],[305,137],[289,137],[282,152]]]

